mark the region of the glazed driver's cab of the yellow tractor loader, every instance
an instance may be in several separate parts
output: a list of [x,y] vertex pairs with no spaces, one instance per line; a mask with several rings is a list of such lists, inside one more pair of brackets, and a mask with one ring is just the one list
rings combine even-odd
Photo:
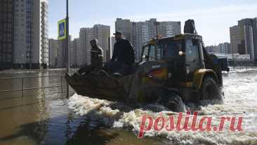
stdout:
[[166,63],[172,81],[192,81],[195,71],[204,68],[202,36],[180,34],[152,40],[143,47],[141,62]]

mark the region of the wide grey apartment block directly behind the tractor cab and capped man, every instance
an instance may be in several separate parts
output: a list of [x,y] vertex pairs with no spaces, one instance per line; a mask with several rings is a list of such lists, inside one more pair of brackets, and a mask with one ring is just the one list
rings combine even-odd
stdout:
[[154,18],[145,22],[131,22],[130,20],[117,18],[115,30],[121,31],[125,39],[127,39],[127,37],[130,38],[128,40],[133,44],[136,60],[139,61],[142,47],[150,41],[150,39],[156,38],[157,35],[170,37],[180,34],[181,26],[180,22],[157,22],[157,19]]

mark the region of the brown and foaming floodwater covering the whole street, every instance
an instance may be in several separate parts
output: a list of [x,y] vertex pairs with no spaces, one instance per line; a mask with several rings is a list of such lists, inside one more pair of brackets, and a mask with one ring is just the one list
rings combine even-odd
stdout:
[[[0,144],[257,144],[257,69],[236,69],[224,74],[224,104],[204,106],[201,116],[243,117],[243,131],[156,132],[137,139],[143,115],[156,118],[176,113],[159,104],[131,109],[125,104],[91,99],[66,88],[48,88],[0,94]],[[0,78],[63,75],[64,71],[2,71]],[[62,79],[62,84],[65,83]],[[60,77],[28,78],[25,88],[60,85]],[[1,90],[21,88],[20,80],[1,80]],[[63,91],[62,91],[63,90]]]

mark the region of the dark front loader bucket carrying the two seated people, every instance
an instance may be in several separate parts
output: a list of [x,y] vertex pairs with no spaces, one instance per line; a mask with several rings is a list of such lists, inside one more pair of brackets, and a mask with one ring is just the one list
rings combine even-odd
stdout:
[[81,76],[75,73],[72,76],[66,74],[65,79],[78,95],[120,102],[129,97],[133,75],[115,78],[108,74]]

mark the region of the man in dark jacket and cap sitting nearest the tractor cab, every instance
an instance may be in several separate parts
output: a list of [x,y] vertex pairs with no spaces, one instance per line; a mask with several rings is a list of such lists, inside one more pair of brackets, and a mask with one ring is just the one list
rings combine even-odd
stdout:
[[115,34],[116,43],[111,62],[107,63],[107,68],[112,73],[119,73],[123,76],[129,75],[135,63],[135,51],[131,43],[124,39],[121,32]]

